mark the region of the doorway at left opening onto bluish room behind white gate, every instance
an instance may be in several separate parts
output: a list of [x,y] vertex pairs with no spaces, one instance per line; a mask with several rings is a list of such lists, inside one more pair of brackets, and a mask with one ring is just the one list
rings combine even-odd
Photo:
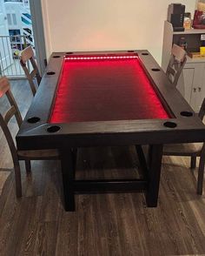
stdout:
[[39,71],[45,68],[45,43],[40,0],[0,0],[0,74],[23,77],[21,51],[32,46]]

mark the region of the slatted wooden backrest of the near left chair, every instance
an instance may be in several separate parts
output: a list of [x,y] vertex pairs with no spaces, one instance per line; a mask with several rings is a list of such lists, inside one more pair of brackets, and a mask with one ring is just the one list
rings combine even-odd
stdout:
[[14,140],[10,134],[10,129],[8,127],[8,123],[10,122],[10,118],[15,116],[17,119],[17,125],[20,127],[20,125],[23,122],[21,113],[17,107],[17,103],[15,101],[15,98],[13,97],[12,92],[10,91],[10,83],[7,79],[7,77],[0,77],[0,98],[3,98],[3,96],[6,96],[10,102],[10,108],[8,111],[4,113],[4,115],[0,111],[0,127],[3,130],[3,134],[7,140],[7,143],[10,147],[10,152],[13,158],[14,165],[17,163],[17,149],[14,143]]

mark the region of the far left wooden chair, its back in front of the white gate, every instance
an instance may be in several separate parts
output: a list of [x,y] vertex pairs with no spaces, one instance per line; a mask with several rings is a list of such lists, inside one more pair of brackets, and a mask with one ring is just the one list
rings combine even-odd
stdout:
[[[29,62],[33,68],[32,71],[30,71],[28,68]],[[36,77],[37,84],[39,85],[41,82],[41,76],[38,71],[36,61],[34,59],[34,52],[33,52],[31,46],[28,46],[27,48],[25,48],[22,51],[21,56],[20,56],[20,64],[23,67],[23,71],[24,71],[27,79],[29,80],[30,89],[31,89],[33,95],[35,95],[36,94],[36,85],[34,83],[34,78]]]

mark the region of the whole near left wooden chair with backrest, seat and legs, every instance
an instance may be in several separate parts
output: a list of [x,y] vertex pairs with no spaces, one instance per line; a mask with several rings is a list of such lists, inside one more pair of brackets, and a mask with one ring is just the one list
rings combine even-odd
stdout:
[[23,119],[21,117],[20,111],[18,110],[15,98],[10,91],[10,83],[8,79],[6,77],[0,77],[0,98],[2,98],[4,95],[7,96],[10,102],[10,109],[6,111],[4,115],[2,115],[2,113],[0,112],[0,127],[3,130],[3,134],[10,147],[10,153],[13,159],[15,171],[17,197],[21,197],[22,184],[19,160],[25,161],[26,172],[30,172],[30,160],[55,159],[59,158],[59,153],[57,150],[17,151],[16,145],[8,127],[8,123],[10,121],[10,118],[15,116],[15,118],[17,119],[17,125],[18,127],[20,127]]

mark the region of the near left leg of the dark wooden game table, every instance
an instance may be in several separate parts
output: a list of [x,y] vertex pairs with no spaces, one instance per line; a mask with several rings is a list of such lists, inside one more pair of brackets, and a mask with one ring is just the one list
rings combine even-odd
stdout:
[[61,151],[61,169],[63,179],[63,195],[65,211],[75,211],[75,168],[73,152],[71,149],[62,149]]

